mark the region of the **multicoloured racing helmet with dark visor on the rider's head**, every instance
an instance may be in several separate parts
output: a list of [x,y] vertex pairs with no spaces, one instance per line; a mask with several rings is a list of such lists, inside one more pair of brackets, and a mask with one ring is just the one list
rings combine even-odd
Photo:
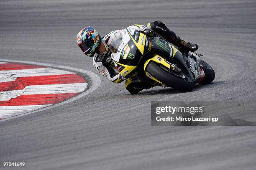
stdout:
[[101,37],[97,30],[85,27],[77,34],[77,44],[86,56],[92,57],[100,48]]

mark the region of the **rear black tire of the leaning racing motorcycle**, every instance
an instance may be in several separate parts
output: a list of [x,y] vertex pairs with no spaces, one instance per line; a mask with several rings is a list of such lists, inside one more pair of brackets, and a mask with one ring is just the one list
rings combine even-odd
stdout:
[[205,72],[205,78],[199,84],[210,84],[215,79],[215,72],[205,61],[201,61],[200,68]]

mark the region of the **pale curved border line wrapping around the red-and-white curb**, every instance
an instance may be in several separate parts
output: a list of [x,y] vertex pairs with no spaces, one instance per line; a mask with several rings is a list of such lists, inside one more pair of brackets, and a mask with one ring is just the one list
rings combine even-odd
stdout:
[[[87,89],[86,91],[78,94],[77,96],[74,96],[70,99],[67,99],[67,100],[63,101],[63,102],[60,102],[60,103],[57,103],[57,104],[54,104],[54,105],[49,105],[48,107],[45,106],[44,108],[40,109],[40,111],[46,110],[46,109],[51,109],[53,107],[61,106],[63,104],[67,104],[71,101],[77,100],[77,99],[79,99],[79,98],[81,98],[81,97],[83,97],[87,94],[90,94],[92,91],[96,90],[101,84],[100,77],[97,74],[93,73],[92,71],[88,71],[88,70],[84,70],[84,69],[77,69],[77,68],[69,67],[69,66],[59,66],[59,65],[54,65],[54,64],[50,64],[50,63],[41,63],[41,62],[33,62],[33,61],[19,61],[19,60],[8,60],[8,59],[0,59],[0,61],[13,62],[13,63],[27,63],[27,64],[33,64],[33,65],[39,65],[39,66],[47,66],[47,67],[56,67],[56,68],[60,68],[60,69],[66,69],[66,70],[72,70],[72,71],[84,73],[87,76],[90,76],[90,79],[92,80],[92,84],[90,86],[90,89]],[[24,113],[24,114],[20,114],[20,115],[17,115],[15,117],[9,117],[9,118],[1,120],[0,122],[10,120],[10,119],[14,119],[14,118],[17,118],[17,117],[20,117],[20,116],[23,116],[23,115],[32,114],[34,112],[38,112],[38,110],[28,112],[28,113]]]

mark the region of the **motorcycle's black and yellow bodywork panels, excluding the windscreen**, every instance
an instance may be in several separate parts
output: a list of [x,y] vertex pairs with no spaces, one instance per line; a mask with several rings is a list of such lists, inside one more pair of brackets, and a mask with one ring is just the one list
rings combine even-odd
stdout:
[[[168,71],[174,64],[182,62],[182,53],[176,46],[159,37],[148,37],[137,30],[133,35],[129,31],[127,33],[131,39],[120,49],[119,61],[114,61],[118,65],[120,74],[126,78],[138,77],[148,83],[165,86],[158,77],[148,73],[149,63],[154,62]],[[182,65],[182,71],[188,75],[187,77],[191,77],[184,60],[179,65]]]

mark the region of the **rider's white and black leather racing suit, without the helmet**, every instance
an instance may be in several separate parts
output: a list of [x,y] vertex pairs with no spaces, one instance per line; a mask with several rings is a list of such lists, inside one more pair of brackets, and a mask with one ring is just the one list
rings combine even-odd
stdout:
[[[176,45],[182,51],[196,51],[198,46],[194,46],[192,49],[191,43],[187,43],[176,36],[176,34],[170,31],[163,22],[155,21],[148,23],[148,25],[132,25],[129,26],[130,29],[136,29],[147,36],[160,36],[161,38],[166,39],[170,43]],[[124,77],[118,72],[118,70],[114,67],[114,63],[111,59],[111,51],[108,46],[108,40],[111,38],[120,37],[123,33],[123,30],[115,30],[102,38],[102,43],[104,44],[106,51],[103,53],[95,53],[93,56],[93,66],[102,76],[106,76],[110,81],[114,83],[120,83],[124,81]],[[125,88],[131,94],[137,94],[139,91],[143,89],[150,89],[154,87],[154,85],[148,84],[146,82],[140,81],[138,79],[130,79],[128,78],[125,82]]]

